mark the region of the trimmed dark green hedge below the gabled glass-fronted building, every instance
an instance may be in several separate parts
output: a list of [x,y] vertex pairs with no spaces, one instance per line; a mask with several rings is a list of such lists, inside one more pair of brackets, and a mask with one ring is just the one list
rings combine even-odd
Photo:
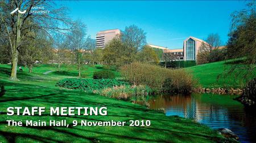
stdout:
[[180,61],[170,61],[170,62],[160,62],[160,66],[164,67],[166,64],[167,68],[185,68],[196,66],[196,60],[180,60]]

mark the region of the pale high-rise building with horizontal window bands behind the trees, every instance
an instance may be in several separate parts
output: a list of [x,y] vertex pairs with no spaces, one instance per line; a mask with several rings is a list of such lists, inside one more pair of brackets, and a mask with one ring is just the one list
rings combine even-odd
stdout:
[[106,44],[120,33],[121,32],[119,29],[111,29],[98,32],[96,34],[96,46],[104,49]]

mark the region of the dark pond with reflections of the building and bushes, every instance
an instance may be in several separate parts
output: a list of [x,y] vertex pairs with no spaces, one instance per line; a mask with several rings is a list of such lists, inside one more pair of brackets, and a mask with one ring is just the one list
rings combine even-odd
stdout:
[[[240,142],[256,142],[256,114],[232,95],[199,94],[156,96],[147,101],[150,109],[165,110],[167,116],[191,118],[213,129],[228,128]],[[145,103],[144,103],[145,104]]]

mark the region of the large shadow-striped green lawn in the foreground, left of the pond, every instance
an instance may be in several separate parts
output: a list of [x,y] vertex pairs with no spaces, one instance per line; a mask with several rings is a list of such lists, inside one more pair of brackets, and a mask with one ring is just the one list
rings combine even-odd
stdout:
[[[84,66],[82,74],[92,78],[102,66]],[[165,116],[162,112],[146,109],[130,102],[88,94],[81,90],[56,87],[57,81],[77,75],[73,67],[64,66],[63,72],[56,65],[38,65],[28,73],[24,68],[18,72],[19,81],[10,81],[10,66],[0,64],[0,85],[6,93],[0,97],[0,142],[222,142],[225,139],[205,125],[177,116]],[[61,73],[61,74],[60,74]],[[118,73],[117,73],[118,74]],[[7,116],[10,106],[49,107],[108,107],[107,116]],[[47,111],[47,110],[46,110]],[[89,120],[89,121],[129,121],[151,120],[150,127],[7,127],[6,120]]]

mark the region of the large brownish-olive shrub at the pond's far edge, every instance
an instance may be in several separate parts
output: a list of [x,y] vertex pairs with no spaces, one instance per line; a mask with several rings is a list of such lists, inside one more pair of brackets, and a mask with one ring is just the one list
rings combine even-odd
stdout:
[[156,91],[187,93],[194,86],[192,75],[183,69],[169,70],[151,64],[131,63],[121,73],[134,85],[148,85]]

